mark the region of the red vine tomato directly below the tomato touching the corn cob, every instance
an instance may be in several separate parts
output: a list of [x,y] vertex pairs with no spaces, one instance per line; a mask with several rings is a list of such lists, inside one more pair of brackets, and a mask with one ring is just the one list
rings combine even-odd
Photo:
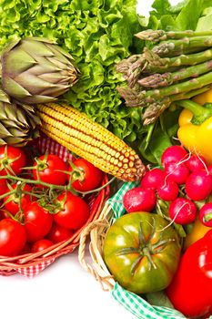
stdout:
[[86,223],[90,211],[88,204],[81,197],[67,191],[60,194],[56,200],[61,207],[61,211],[54,214],[54,220],[58,225],[78,230]]

